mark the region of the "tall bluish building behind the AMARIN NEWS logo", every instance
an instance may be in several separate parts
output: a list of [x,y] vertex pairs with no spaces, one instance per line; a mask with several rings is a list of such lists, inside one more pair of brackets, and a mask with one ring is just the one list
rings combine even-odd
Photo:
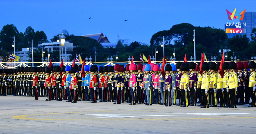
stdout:
[[252,29],[256,28],[256,12],[245,12],[244,19],[240,20],[240,22],[246,22],[246,36],[251,41]]

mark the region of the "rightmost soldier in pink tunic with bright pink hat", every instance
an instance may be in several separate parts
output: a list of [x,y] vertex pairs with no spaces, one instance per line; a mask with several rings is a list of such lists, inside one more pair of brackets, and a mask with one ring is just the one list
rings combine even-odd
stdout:
[[155,77],[153,78],[153,83],[154,83],[154,94],[155,94],[155,104],[160,104],[160,96],[159,96],[159,77],[160,77],[160,73],[159,73],[159,66],[158,65],[154,65],[153,67],[153,71],[155,74]]

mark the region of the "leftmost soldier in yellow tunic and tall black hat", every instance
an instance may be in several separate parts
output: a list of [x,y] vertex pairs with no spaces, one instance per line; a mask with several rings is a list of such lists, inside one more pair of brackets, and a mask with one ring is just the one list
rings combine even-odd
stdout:
[[183,106],[180,107],[188,107],[190,104],[190,97],[189,97],[189,88],[188,88],[188,83],[189,83],[189,72],[188,72],[188,64],[187,63],[182,63],[180,66],[180,70],[182,73],[182,76],[180,78],[180,91],[182,98],[184,100]]

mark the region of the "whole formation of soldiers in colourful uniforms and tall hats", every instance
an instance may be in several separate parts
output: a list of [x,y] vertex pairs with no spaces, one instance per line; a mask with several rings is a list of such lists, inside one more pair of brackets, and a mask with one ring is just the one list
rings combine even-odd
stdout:
[[47,97],[46,101],[71,103],[100,100],[130,105],[255,107],[255,68],[254,61],[224,62],[221,66],[215,62],[177,62],[164,67],[153,63],[18,67],[0,69],[0,95],[34,96],[34,100]]

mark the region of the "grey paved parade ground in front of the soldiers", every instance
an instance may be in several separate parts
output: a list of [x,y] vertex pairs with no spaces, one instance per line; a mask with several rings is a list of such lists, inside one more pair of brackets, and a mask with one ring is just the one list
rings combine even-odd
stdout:
[[255,133],[256,108],[33,101],[0,96],[0,133]]

